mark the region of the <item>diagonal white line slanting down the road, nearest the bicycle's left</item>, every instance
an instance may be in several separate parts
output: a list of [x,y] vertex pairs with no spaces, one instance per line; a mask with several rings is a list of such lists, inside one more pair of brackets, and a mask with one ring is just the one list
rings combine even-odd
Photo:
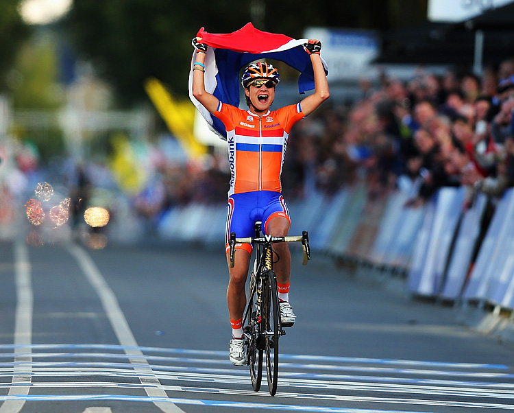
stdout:
[[104,311],[106,311],[106,315],[112,325],[112,329],[114,329],[119,343],[125,347],[125,354],[131,356],[129,360],[134,364],[134,370],[138,373],[139,380],[145,387],[147,395],[154,400],[154,404],[162,412],[184,412],[173,403],[162,403],[162,399],[167,398],[167,394],[156,377],[154,370],[151,369],[147,359],[144,357],[143,352],[138,349],[136,338],[134,338],[134,334],[128,325],[127,319],[123,311],[121,311],[118,299],[105,279],[103,279],[101,272],[98,270],[93,260],[90,259],[84,249],[79,248],[79,246],[75,244],[68,246],[68,250],[71,255],[75,257],[82,272],[84,272],[86,278],[97,292],[101,300],[101,305]]

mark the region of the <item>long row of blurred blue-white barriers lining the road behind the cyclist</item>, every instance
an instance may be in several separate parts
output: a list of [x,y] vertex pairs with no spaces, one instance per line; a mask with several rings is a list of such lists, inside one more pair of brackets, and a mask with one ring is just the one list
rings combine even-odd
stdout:
[[[409,193],[371,198],[364,184],[332,196],[313,193],[288,204],[291,233],[309,231],[310,246],[332,257],[400,271],[409,292],[442,300],[514,308],[514,190],[498,201],[483,240],[487,197],[463,211],[465,189],[443,188],[419,208]],[[224,247],[226,207],[190,204],[169,211],[159,233],[168,239],[205,239]],[[474,260],[474,262],[472,262]]]

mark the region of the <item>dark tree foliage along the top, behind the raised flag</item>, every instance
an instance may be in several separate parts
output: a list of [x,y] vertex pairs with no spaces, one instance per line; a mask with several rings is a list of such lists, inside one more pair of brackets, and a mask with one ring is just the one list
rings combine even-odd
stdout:
[[385,30],[425,16],[426,0],[75,0],[63,27],[121,103],[134,104],[145,99],[143,82],[150,76],[186,95],[191,39],[201,27],[229,33],[252,21],[299,38],[309,26]]

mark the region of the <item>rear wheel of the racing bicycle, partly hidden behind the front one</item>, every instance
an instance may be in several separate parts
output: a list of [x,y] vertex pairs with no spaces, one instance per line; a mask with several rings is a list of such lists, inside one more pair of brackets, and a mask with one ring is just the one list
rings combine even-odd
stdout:
[[258,306],[258,294],[256,291],[256,278],[254,272],[250,274],[250,285],[249,285],[249,306],[250,314],[247,318],[247,326],[245,327],[246,332],[250,338],[247,346],[247,359],[250,368],[250,378],[252,379],[252,387],[254,391],[260,390],[260,382],[262,381],[262,347],[258,349],[258,329],[259,329],[259,318],[260,309]]

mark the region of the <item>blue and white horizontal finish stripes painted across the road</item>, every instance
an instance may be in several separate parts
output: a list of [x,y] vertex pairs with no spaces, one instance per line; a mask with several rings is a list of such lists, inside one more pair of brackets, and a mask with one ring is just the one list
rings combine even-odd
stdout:
[[[12,348],[13,346],[0,346],[0,349]],[[145,389],[145,383],[130,383],[125,379],[138,378],[138,371],[134,368],[133,363],[129,362],[76,362],[76,359],[83,359],[86,357],[93,357],[94,359],[132,359],[131,355],[120,353],[75,353],[77,349],[99,349],[98,345],[34,345],[39,349],[69,349],[72,352],[51,352],[42,353],[36,352],[34,355],[34,362],[32,363],[32,373],[35,377],[58,377],[58,381],[51,380],[38,380],[31,386],[34,388],[90,388],[91,391],[85,400],[125,400],[125,401],[153,401],[154,403],[161,403],[162,398],[149,396],[145,400],[137,399],[136,396],[123,394],[95,394],[95,388],[112,388],[112,389],[126,389],[129,392],[134,390]],[[122,346],[108,346],[112,351],[119,351]],[[139,348],[141,353],[143,351]],[[202,356],[212,357],[212,351],[182,351],[180,349],[152,349],[154,353],[160,351],[162,353],[175,353],[192,356],[191,353],[196,353],[198,358],[193,357],[163,357],[159,355],[149,356],[143,355],[147,359],[154,359],[154,361],[166,361],[169,364],[151,364],[149,368],[153,370],[156,379],[160,381],[167,381],[167,384],[162,384],[161,388],[164,391],[174,392],[175,394],[206,394],[209,397],[213,395],[216,397],[233,397],[238,395],[241,397],[250,397],[256,393],[251,390],[247,369],[236,368],[210,368],[210,363],[205,363],[206,359]],[[219,356],[224,355],[223,352]],[[1,358],[7,358],[8,353],[0,353]],[[305,362],[319,361],[317,356],[301,356],[292,358],[301,358]],[[66,362],[62,359],[71,358],[72,361]],[[51,360],[56,359],[56,362]],[[204,364],[204,367],[191,367],[191,362],[195,360],[196,363]],[[212,363],[226,363],[225,357],[221,359],[208,359]],[[328,361],[328,359],[327,359]],[[330,360],[331,362],[333,360]],[[400,362],[400,365],[402,363]],[[422,364],[420,364],[421,366]],[[144,364],[143,366],[148,366]],[[280,391],[277,397],[280,399],[304,399],[331,403],[376,403],[378,405],[417,405],[417,406],[437,406],[437,407],[452,407],[452,408],[474,408],[474,409],[504,409],[512,410],[514,403],[514,383],[513,382],[498,382],[498,381],[457,381],[457,380],[443,380],[443,379],[428,379],[430,376],[437,376],[437,370],[427,370],[421,368],[419,371],[424,378],[415,377],[391,377],[384,376],[368,376],[368,375],[336,375],[336,374],[319,374],[319,373],[302,373],[302,364],[295,364],[297,371],[284,371],[280,375],[279,386]],[[305,364],[304,366],[312,367],[312,364]],[[321,364],[320,364],[321,366]],[[330,366],[334,367],[333,364]],[[468,365],[471,366],[471,365]],[[136,366],[137,367],[137,366]],[[343,367],[343,366],[340,366]],[[461,370],[465,370],[463,365],[459,366]],[[489,372],[482,372],[477,370],[474,366],[469,367],[473,373],[478,376],[489,375]],[[14,370],[13,364],[0,363],[0,376],[9,375]],[[401,369],[405,370],[405,369]],[[409,370],[409,375],[413,375],[415,369]],[[363,373],[366,373],[366,368],[363,368]],[[432,374],[433,373],[433,374]],[[447,372],[449,373],[449,372]],[[460,371],[458,373],[465,373]],[[101,381],[88,381],[79,379],[79,377],[112,377],[112,380]],[[64,377],[69,377],[69,381],[63,381]],[[514,377],[508,372],[495,373],[493,379],[512,380]],[[490,380],[491,377],[485,377]],[[265,380],[265,378],[264,378]],[[174,383],[173,383],[174,382]],[[206,386],[206,384],[209,384]],[[0,388],[8,388],[9,385],[1,386]],[[235,387],[235,388],[234,388]],[[320,391],[321,390],[321,391]],[[357,393],[358,392],[358,393]],[[367,396],[367,394],[371,394]],[[393,393],[393,394],[391,394]],[[388,396],[387,394],[391,394]],[[411,396],[417,396],[410,398]],[[53,397],[53,399],[51,399]],[[62,394],[60,400],[70,400],[80,397],[80,394]],[[48,401],[59,398],[58,395],[43,395],[39,399],[36,396],[27,396],[26,400],[31,401]],[[2,398],[0,397],[0,400]],[[84,399],[82,399],[84,400]],[[193,399],[169,399],[174,401],[173,404],[196,404]],[[169,403],[169,402],[167,402]],[[226,404],[228,403],[228,404]],[[171,403],[169,403],[171,404]],[[277,405],[270,405],[266,403],[237,403],[237,402],[224,402],[217,400],[209,400],[200,404],[209,405],[211,407],[219,408],[256,408],[256,409],[271,409],[272,406],[277,408]],[[386,412],[386,410],[362,410],[350,408],[335,408],[317,405],[280,405],[282,410],[291,411],[310,411],[310,412]]]

